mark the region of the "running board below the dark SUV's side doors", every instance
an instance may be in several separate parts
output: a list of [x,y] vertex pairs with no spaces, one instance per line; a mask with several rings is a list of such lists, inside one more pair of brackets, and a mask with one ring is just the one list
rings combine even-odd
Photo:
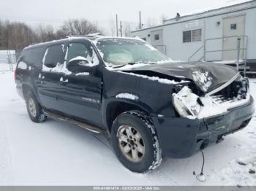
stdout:
[[90,130],[93,133],[105,133],[105,130],[103,130],[102,128],[97,128],[97,127],[94,127],[92,125],[88,125],[88,124],[86,124],[84,122],[80,122],[78,120],[74,120],[71,117],[66,117],[66,116],[61,115],[61,114],[56,114],[56,113],[50,112],[50,111],[45,110],[45,109],[43,109],[43,112],[48,117],[52,117],[52,118],[54,118],[56,120],[62,120],[62,121],[69,122],[72,125],[76,125],[76,126],[78,126],[80,128],[85,128],[87,130]]

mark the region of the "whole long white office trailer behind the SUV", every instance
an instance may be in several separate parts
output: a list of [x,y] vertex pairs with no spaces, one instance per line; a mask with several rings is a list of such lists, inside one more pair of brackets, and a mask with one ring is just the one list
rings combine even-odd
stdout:
[[256,71],[256,1],[165,20],[132,31],[173,60],[246,61]]

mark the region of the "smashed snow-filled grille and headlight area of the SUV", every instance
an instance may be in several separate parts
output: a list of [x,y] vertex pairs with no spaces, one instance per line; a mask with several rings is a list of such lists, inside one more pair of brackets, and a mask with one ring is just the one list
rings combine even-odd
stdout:
[[188,86],[178,86],[174,87],[173,106],[180,117],[189,119],[225,114],[229,109],[246,104],[250,98],[249,81],[239,73],[208,93]]

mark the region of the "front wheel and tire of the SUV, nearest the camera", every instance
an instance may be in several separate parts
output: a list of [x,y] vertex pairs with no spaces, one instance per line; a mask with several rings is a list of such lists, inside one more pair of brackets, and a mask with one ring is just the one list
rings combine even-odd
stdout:
[[124,112],[113,122],[112,144],[118,160],[130,171],[147,173],[162,162],[157,133],[143,112]]

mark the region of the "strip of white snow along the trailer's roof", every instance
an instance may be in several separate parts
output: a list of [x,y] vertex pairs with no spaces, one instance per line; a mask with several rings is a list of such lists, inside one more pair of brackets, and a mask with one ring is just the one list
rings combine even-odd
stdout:
[[[192,16],[192,15],[199,15],[199,14],[203,14],[206,12],[211,12],[217,9],[225,9],[227,7],[231,7],[231,6],[236,6],[238,4],[244,4],[244,3],[248,3],[248,2],[252,2],[255,0],[228,0],[228,1],[222,1],[222,4],[217,4],[214,7],[205,7],[203,9],[197,9],[197,10],[193,10],[192,12],[188,12],[185,15],[181,14],[181,17],[188,17],[188,16]],[[164,23],[169,21],[169,20],[175,20],[176,17],[171,17],[171,18],[167,18],[166,20],[164,20]]]

